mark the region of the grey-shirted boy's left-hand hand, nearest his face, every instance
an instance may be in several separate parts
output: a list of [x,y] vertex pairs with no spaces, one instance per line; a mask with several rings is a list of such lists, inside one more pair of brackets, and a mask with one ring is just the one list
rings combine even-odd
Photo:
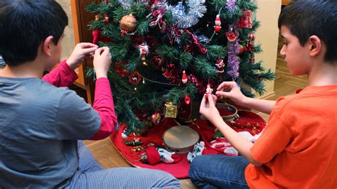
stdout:
[[78,43],[68,58],[67,64],[71,69],[75,70],[83,62],[84,58],[92,57],[97,48],[98,46],[92,43]]

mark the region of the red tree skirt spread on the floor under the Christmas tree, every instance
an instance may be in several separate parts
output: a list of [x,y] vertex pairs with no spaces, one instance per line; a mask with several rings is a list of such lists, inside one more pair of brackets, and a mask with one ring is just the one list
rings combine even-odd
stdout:
[[[264,119],[259,115],[249,112],[249,111],[239,111],[238,114],[240,118],[228,122],[228,124],[236,131],[249,131],[252,135],[259,134],[264,126],[266,125]],[[212,139],[215,127],[211,125],[208,121],[197,119],[194,121],[195,124],[189,124],[192,129],[195,129],[200,134],[200,139],[205,141],[205,146],[210,147],[209,141]],[[126,140],[132,140],[134,137],[140,138],[143,142],[142,146],[146,146],[149,143],[156,144],[158,146],[164,146],[161,136],[163,136],[164,131],[169,129],[171,126],[179,125],[175,119],[166,118],[159,125],[151,127],[147,132],[146,136],[130,136]],[[182,160],[178,163],[168,164],[168,163],[158,163],[154,166],[141,163],[140,153],[132,150],[132,146],[126,146],[124,139],[122,138],[122,132],[125,125],[122,124],[119,131],[112,134],[110,139],[112,144],[117,148],[119,153],[134,167],[138,168],[151,168],[161,171],[166,171],[171,173],[176,178],[188,178],[188,169],[190,168],[190,163],[187,161],[187,153],[182,154]],[[216,150],[216,149],[215,149]],[[225,154],[224,154],[225,155]]]

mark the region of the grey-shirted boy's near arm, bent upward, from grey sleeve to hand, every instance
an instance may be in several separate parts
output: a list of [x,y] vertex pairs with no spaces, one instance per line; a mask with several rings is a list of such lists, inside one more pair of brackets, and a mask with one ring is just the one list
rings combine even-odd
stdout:
[[109,48],[99,48],[95,51],[94,68],[97,80],[92,107],[75,95],[75,92],[65,92],[56,117],[60,139],[99,140],[114,132],[117,117],[107,79],[110,63]]

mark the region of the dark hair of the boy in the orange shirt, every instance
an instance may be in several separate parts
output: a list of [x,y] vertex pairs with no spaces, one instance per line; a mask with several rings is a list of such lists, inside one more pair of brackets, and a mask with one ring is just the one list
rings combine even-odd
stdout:
[[326,45],[324,60],[337,60],[337,1],[291,0],[279,15],[279,28],[286,26],[302,46],[310,36],[318,36]]

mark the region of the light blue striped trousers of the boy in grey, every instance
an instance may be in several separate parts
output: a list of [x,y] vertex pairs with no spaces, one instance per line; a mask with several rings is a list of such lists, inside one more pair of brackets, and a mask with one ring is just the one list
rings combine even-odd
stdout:
[[107,168],[95,161],[90,150],[78,141],[79,168],[70,183],[60,188],[181,188],[179,180],[164,171],[147,168]]

